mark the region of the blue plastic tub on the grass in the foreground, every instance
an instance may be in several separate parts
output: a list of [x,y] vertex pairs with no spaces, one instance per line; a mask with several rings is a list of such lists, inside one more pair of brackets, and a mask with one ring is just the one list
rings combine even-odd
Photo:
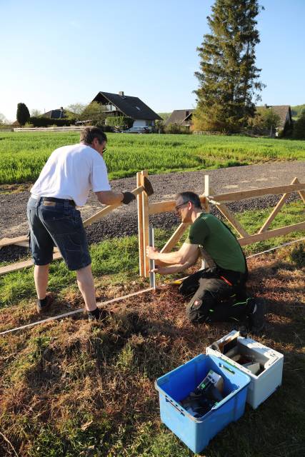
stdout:
[[[225,398],[201,418],[194,418],[179,404],[194,391],[209,370],[224,378]],[[243,414],[250,378],[216,356],[200,354],[156,380],[161,421],[188,446],[199,453],[216,433]]]

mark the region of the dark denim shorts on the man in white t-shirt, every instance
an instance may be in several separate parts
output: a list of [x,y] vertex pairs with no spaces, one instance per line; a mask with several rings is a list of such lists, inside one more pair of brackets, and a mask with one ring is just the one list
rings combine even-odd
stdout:
[[30,229],[30,248],[35,265],[47,265],[53,259],[54,246],[69,270],[90,265],[86,233],[80,212],[71,200],[44,198],[29,199],[27,216]]

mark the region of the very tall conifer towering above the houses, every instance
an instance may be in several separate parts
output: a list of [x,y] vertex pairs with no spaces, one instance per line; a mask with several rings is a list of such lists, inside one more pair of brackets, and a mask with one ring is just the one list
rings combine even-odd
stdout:
[[264,87],[255,66],[259,43],[257,0],[216,0],[208,16],[210,34],[197,48],[201,58],[195,129],[239,131],[254,116],[253,98]]

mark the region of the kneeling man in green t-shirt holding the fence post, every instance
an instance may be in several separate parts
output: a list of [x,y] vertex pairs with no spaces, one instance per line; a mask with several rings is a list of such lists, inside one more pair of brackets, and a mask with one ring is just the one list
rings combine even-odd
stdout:
[[155,271],[183,271],[201,254],[208,268],[186,278],[179,288],[184,296],[193,295],[186,308],[189,320],[239,321],[248,316],[250,330],[259,333],[264,328],[264,308],[258,301],[246,298],[246,258],[233,233],[215,216],[202,211],[194,192],[178,194],[175,209],[182,222],[191,223],[189,238],[173,253],[160,253],[149,246],[146,253],[155,260]]

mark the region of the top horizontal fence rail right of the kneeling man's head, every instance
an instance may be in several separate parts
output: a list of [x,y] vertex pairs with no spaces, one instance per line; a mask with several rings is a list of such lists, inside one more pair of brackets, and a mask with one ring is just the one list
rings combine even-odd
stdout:
[[238,201],[262,195],[277,195],[284,194],[285,192],[296,192],[301,189],[305,189],[305,184],[289,184],[287,186],[263,187],[261,189],[253,189],[251,191],[230,192],[229,194],[214,195],[212,199],[216,201]]

